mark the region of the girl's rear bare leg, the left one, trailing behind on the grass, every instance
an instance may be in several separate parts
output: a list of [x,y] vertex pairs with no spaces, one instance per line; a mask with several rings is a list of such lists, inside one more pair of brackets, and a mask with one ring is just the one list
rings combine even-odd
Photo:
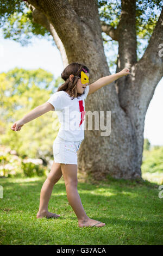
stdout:
[[[37,218],[42,218],[45,216],[51,217],[54,215],[52,212],[48,212],[48,202],[51,197],[54,184],[57,183],[61,176],[61,164],[53,162],[51,171],[49,172],[47,179],[45,180],[41,188],[40,207],[39,211],[37,212]],[[60,215],[56,215],[56,217],[59,216]]]

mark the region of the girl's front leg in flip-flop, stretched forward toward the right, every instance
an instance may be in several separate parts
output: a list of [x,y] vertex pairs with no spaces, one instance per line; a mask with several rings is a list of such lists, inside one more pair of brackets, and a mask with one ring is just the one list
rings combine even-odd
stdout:
[[[61,171],[64,176],[67,199],[78,218],[79,227],[92,226],[99,221],[89,218],[83,208],[82,202],[77,190],[77,164],[62,164]],[[105,223],[100,223],[96,227],[102,227]]]

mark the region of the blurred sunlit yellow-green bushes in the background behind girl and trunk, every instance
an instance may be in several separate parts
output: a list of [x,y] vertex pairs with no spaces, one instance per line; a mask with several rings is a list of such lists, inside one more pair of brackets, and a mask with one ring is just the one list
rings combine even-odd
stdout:
[[[24,125],[21,131],[10,128],[23,115],[46,102],[62,83],[43,69],[15,68],[0,74],[0,176],[47,175],[53,162],[53,141],[60,123],[55,112],[48,112]],[[51,89],[53,88],[53,89]],[[144,139],[142,178],[163,184],[163,147]]]

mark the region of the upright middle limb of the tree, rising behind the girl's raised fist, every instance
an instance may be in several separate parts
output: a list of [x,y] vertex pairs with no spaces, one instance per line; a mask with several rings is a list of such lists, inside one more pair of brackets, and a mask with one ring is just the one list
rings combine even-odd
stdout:
[[[131,69],[131,67],[137,62],[136,0],[122,0],[121,6],[122,11],[120,22],[117,27],[119,47],[116,72],[119,72],[125,67]],[[131,76],[132,75],[133,74],[131,74]],[[125,109],[128,103],[128,99],[124,98],[123,94],[126,90],[127,84],[131,83],[131,76],[122,77],[120,80],[115,82],[122,109]]]

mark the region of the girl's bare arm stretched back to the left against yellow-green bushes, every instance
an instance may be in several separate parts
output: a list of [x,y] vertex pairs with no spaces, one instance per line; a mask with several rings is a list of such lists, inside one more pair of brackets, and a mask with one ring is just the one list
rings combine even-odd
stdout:
[[48,112],[50,110],[53,110],[53,109],[54,109],[54,107],[50,103],[45,102],[42,105],[35,107],[28,114],[24,115],[24,117],[22,119],[16,121],[12,125],[11,130],[13,130],[13,131],[20,131],[21,127],[24,124],[28,123],[29,121],[31,121],[31,120],[33,120],[33,119],[35,119],[37,117],[40,117],[40,115],[43,115],[46,112]]

